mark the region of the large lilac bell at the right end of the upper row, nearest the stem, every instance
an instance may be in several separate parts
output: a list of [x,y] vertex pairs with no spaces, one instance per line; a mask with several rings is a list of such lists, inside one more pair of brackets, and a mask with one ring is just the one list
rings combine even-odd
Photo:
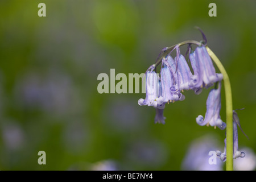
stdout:
[[189,59],[194,72],[190,82],[193,88],[208,88],[214,82],[222,80],[222,74],[216,73],[212,59],[204,46],[197,47],[195,52],[189,55]]

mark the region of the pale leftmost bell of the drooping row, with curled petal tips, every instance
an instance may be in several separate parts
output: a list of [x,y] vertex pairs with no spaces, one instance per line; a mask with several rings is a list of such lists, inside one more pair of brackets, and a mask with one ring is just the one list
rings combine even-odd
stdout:
[[156,98],[159,96],[159,78],[155,71],[147,71],[146,73],[146,98],[139,99],[140,106],[148,105],[157,107]]

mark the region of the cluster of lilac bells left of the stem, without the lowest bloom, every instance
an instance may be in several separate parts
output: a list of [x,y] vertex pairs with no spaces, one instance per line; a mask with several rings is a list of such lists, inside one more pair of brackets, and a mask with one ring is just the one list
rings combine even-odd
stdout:
[[[218,82],[218,89],[210,90],[205,119],[199,115],[196,121],[202,126],[210,125],[217,126],[222,130],[225,129],[226,125],[220,119],[220,81],[223,76],[221,73],[216,73],[207,49],[201,45],[189,53],[193,74],[185,57],[181,55],[179,46],[175,46],[174,49],[176,49],[175,59],[172,58],[171,52],[162,57],[160,76],[155,72],[155,65],[148,68],[146,72],[146,98],[141,98],[138,104],[155,107],[155,123],[165,123],[163,109],[166,103],[183,101],[185,99],[182,94],[183,90],[193,90],[195,94],[200,94],[203,88],[209,88]],[[163,51],[165,50],[163,49]]]

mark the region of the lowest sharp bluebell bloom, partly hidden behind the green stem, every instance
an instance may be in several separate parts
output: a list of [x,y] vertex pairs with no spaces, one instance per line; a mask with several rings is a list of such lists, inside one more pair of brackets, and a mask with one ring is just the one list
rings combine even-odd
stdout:
[[[245,157],[245,152],[238,151],[238,131],[237,131],[237,126],[239,126],[240,129],[241,129],[241,125],[240,125],[240,121],[239,121],[239,118],[237,116],[237,113],[236,113],[235,110],[233,110],[233,158],[234,159]],[[243,130],[242,130],[242,133],[243,133]],[[243,134],[245,134],[245,133],[243,133]],[[245,136],[247,137],[246,134],[245,134]],[[226,138],[224,140],[224,143],[225,143],[224,152],[221,153],[221,151],[216,151],[218,158],[220,158],[223,162],[226,161]]]

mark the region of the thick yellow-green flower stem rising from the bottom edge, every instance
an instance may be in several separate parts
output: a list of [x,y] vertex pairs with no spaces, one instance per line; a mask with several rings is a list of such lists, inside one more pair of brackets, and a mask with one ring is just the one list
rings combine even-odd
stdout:
[[206,48],[210,57],[212,57],[212,60],[223,75],[226,98],[226,170],[233,171],[233,106],[229,76],[218,57],[209,47],[206,46]]

